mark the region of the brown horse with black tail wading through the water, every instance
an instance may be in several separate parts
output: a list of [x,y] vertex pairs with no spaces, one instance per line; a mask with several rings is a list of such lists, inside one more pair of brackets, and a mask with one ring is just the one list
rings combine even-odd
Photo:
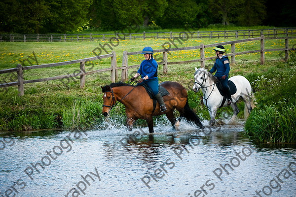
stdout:
[[[137,119],[144,119],[148,124],[149,132],[152,133],[154,132],[152,116],[165,114],[175,128],[177,121],[173,112],[177,109],[180,112],[180,117],[185,117],[198,127],[204,128],[198,116],[190,109],[187,101],[187,91],[181,84],[166,81],[161,83],[160,86],[163,86],[169,92],[169,95],[163,97],[167,107],[164,112],[160,112],[159,103],[156,104],[153,111],[153,101],[143,86],[132,86],[121,82],[101,86],[104,93],[102,112],[105,117],[108,116],[116,101],[121,102],[125,105],[127,128],[131,131]],[[181,118],[179,118],[180,120]]]

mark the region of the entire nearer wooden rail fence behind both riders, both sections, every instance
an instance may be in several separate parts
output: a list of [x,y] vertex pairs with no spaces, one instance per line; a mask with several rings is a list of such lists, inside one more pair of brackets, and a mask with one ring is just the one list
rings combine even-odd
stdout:
[[[264,45],[266,39],[285,39],[285,48],[266,49],[265,45]],[[296,36],[295,37],[273,38],[273,37],[265,37],[264,35],[261,35],[260,37],[255,37],[255,38],[247,38],[247,39],[234,40],[234,41],[215,43],[215,44],[207,44],[207,45],[200,44],[199,46],[191,46],[191,47],[159,49],[159,50],[154,50],[154,53],[162,53],[162,61],[159,62],[159,64],[163,65],[163,73],[164,74],[167,73],[167,71],[168,71],[168,65],[188,64],[188,63],[193,63],[193,62],[200,62],[200,66],[204,67],[205,61],[213,60],[216,58],[215,56],[206,58],[205,57],[205,49],[206,48],[213,48],[213,47],[220,45],[220,44],[222,44],[222,45],[229,45],[230,44],[231,45],[231,52],[228,53],[227,55],[228,55],[228,57],[230,57],[232,64],[235,64],[235,56],[237,56],[237,55],[243,55],[243,54],[248,54],[248,53],[260,53],[260,63],[263,65],[265,62],[264,54],[267,51],[285,51],[284,60],[287,61],[289,58],[289,50],[295,50],[295,48],[289,48],[289,39],[296,39]],[[235,44],[236,43],[256,41],[256,40],[260,40],[260,48],[259,49],[252,50],[252,51],[235,52]],[[196,49],[200,50],[200,59],[188,60],[188,61],[182,61],[182,62],[168,62],[169,52],[183,51],[183,50],[196,50]],[[137,54],[141,54],[141,53],[142,53],[142,51],[136,51],[136,52],[124,51],[123,56],[122,56],[122,66],[120,66],[120,67],[117,67],[116,53],[114,51],[111,54],[106,54],[106,55],[101,55],[101,56],[96,56],[96,57],[91,57],[91,58],[84,58],[84,59],[80,59],[80,60],[73,60],[73,61],[68,61],[68,62],[60,62],[60,63],[53,63],[53,64],[45,64],[45,65],[35,65],[35,66],[18,65],[16,68],[9,68],[9,69],[0,70],[0,74],[9,73],[9,72],[17,72],[17,79],[18,79],[18,81],[16,81],[16,82],[9,82],[9,83],[0,84],[0,88],[5,88],[5,87],[9,87],[9,86],[18,86],[19,95],[22,96],[22,95],[24,95],[24,84],[57,80],[57,79],[65,79],[65,78],[70,79],[70,78],[77,77],[77,76],[80,76],[80,88],[83,88],[85,85],[85,76],[86,75],[98,73],[98,72],[111,71],[111,81],[115,82],[115,80],[117,79],[117,70],[118,69],[122,70],[121,81],[127,81],[129,79],[128,78],[128,70],[131,68],[136,68],[136,67],[140,66],[140,65],[128,66],[128,56],[129,55],[137,55]],[[110,58],[110,57],[111,57],[111,67],[102,68],[102,69],[98,69],[98,70],[91,70],[88,72],[85,71],[85,63],[86,62],[97,60],[97,59]],[[23,70],[53,67],[53,66],[72,65],[72,64],[77,64],[77,63],[80,64],[79,73],[54,76],[54,77],[48,77],[48,78],[42,78],[42,79],[24,80]]]

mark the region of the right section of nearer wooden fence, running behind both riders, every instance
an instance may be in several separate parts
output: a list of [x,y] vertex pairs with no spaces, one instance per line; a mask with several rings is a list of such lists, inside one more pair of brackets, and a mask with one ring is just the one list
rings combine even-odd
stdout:
[[[231,53],[228,53],[227,56],[231,59],[231,64],[235,64],[235,56],[237,55],[243,55],[248,53],[260,53],[260,64],[264,64],[265,62],[265,52],[267,51],[285,51],[285,58],[284,60],[287,61],[289,58],[289,50],[295,50],[294,48],[289,48],[289,39],[295,39],[294,37],[265,37],[264,35],[261,35],[260,37],[255,38],[247,38],[247,39],[241,39],[241,40],[234,40],[234,41],[228,41],[228,42],[222,42],[222,43],[215,43],[215,44],[200,44],[199,46],[190,46],[190,47],[180,47],[180,48],[170,48],[170,49],[160,49],[160,50],[154,50],[154,53],[162,53],[162,62],[159,62],[158,64],[163,65],[163,73],[166,74],[168,71],[168,65],[175,65],[175,64],[188,64],[193,62],[200,62],[200,66],[205,66],[205,61],[207,60],[213,60],[216,59],[216,56],[205,58],[205,48],[213,48],[217,45],[231,45]],[[285,48],[277,48],[277,49],[265,49],[265,39],[285,39]],[[260,49],[258,50],[252,50],[252,51],[241,51],[241,52],[235,52],[235,44],[241,43],[241,42],[249,42],[249,41],[255,41],[260,40]],[[182,62],[168,62],[168,52],[172,51],[183,51],[183,50],[195,50],[200,49],[200,59],[196,60],[188,60],[188,61],[182,61]],[[127,81],[128,80],[128,70],[131,68],[138,68],[140,65],[133,65],[128,66],[128,56],[129,55],[137,55],[141,54],[142,51],[137,52],[123,52],[122,57],[122,74],[121,74],[121,81]]]

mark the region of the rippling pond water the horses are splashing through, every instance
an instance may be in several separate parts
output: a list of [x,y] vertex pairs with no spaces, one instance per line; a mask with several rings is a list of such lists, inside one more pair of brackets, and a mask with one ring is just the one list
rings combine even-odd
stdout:
[[1,133],[0,197],[295,197],[296,145],[243,124]]

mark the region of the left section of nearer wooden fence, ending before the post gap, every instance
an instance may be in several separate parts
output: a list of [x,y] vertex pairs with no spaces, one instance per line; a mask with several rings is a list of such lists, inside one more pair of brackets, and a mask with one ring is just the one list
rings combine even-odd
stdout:
[[[111,57],[111,67],[109,68],[102,68],[97,70],[91,70],[86,72],[85,71],[85,63],[93,60],[101,60],[103,58],[110,58]],[[61,75],[61,76],[54,76],[54,77],[48,77],[48,78],[42,78],[42,79],[33,79],[33,80],[24,80],[24,73],[23,70],[30,70],[30,69],[37,69],[37,68],[46,68],[46,67],[53,67],[53,66],[64,66],[64,65],[72,65],[72,64],[80,64],[80,69],[78,73],[73,74],[67,74],[67,75]],[[3,73],[9,73],[9,72],[17,72],[17,79],[16,82],[9,82],[0,84],[0,88],[5,88],[9,86],[18,86],[19,95],[24,95],[24,84],[27,83],[35,83],[35,82],[42,82],[42,81],[50,81],[50,80],[57,80],[57,79],[71,79],[73,77],[79,77],[80,76],[80,88],[83,88],[85,85],[85,76],[88,74],[94,74],[97,72],[105,72],[105,71],[111,71],[111,81],[115,82],[117,77],[117,70],[120,69],[117,67],[116,62],[116,53],[113,51],[111,54],[101,55],[101,56],[95,56],[91,58],[84,58],[80,60],[72,60],[67,62],[59,62],[59,63],[53,63],[53,64],[44,64],[44,65],[34,65],[34,66],[22,66],[17,65],[16,68],[9,68],[0,70],[0,74]]]

